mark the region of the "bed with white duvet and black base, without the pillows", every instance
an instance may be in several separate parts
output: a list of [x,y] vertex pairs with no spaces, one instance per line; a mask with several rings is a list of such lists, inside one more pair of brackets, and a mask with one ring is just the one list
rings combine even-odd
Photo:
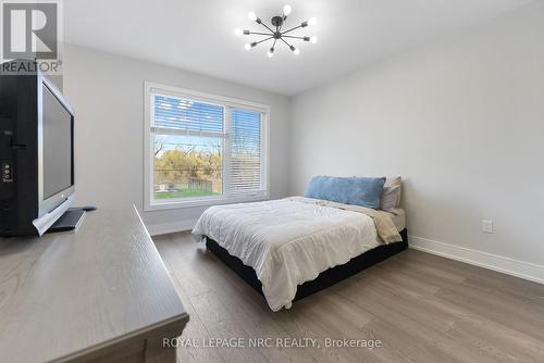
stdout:
[[306,197],[211,206],[193,235],[263,295],[272,311],[289,309],[408,246],[400,209]]

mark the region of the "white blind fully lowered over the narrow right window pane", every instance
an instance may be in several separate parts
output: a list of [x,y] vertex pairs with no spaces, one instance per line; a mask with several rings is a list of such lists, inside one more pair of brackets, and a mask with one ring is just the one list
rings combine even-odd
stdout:
[[231,191],[262,189],[261,180],[261,113],[231,109]]

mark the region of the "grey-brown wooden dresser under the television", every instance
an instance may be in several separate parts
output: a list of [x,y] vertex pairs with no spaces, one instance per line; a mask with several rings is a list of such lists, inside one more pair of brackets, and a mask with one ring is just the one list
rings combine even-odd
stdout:
[[1,362],[175,362],[188,315],[134,208],[0,238]]

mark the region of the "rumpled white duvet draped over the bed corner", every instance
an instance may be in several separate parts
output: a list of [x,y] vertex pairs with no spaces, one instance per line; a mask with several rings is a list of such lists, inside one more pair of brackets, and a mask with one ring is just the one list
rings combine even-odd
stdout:
[[371,217],[324,204],[294,197],[211,206],[193,235],[254,267],[270,309],[289,309],[297,285],[382,243]]

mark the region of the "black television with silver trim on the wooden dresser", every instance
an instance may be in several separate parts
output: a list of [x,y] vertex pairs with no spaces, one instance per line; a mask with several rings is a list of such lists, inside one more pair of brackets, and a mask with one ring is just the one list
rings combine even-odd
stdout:
[[42,235],[74,193],[74,113],[42,74],[0,76],[0,235]]

